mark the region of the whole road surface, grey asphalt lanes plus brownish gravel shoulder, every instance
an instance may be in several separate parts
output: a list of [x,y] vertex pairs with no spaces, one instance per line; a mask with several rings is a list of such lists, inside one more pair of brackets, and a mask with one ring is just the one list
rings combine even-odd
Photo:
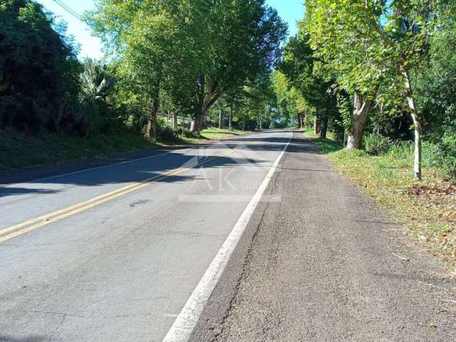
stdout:
[[455,280],[291,135],[0,188],[0,341],[455,341]]

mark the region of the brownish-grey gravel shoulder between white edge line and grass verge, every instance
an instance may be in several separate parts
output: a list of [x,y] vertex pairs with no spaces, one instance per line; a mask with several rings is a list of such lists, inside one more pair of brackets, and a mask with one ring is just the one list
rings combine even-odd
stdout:
[[295,133],[192,341],[455,341],[456,281]]

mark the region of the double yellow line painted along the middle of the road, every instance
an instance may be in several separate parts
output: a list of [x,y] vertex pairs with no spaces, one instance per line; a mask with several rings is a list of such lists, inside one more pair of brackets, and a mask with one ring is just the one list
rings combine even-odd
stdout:
[[135,182],[130,184],[126,187],[123,187],[118,190],[114,190],[112,192],[105,193],[98,197],[93,197],[91,199],[87,199],[86,201],[79,202],[77,204],[73,204],[69,207],[65,207],[63,209],[58,209],[55,212],[51,212],[49,214],[45,214],[40,217],[35,217],[33,219],[28,219],[25,222],[15,224],[14,226],[7,227],[4,229],[0,229],[0,243],[5,242],[6,240],[13,239],[14,237],[18,237],[19,235],[25,234],[27,232],[31,232],[34,229],[46,226],[47,224],[51,224],[53,222],[59,221],[64,219],[65,217],[69,217],[74,214],[78,214],[78,212],[83,212],[84,210],[96,207],[97,205],[103,204],[105,202],[110,201],[111,199],[118,198],[123,195],[127,195],[130,192],[140,190],[143,187],[147,187],[153,182],[158,182],[160,180],[164,180],[167,177],[172,177],[178,175],[182,172],[192,169],[193,167],[197,167],[199,165],[206,164],[207,162],[212,162],[212,160],[216,160],[219,157],[224,157],[225,155],[232,154],[234,150],[229,150],[223,152],[219,155],[214,155],[212,157],[204,158],[204,160],[193,162],[185,167],[179,167],[175,170],[170,170],[168,172],[162,173],[161,175],[157,175],[154,177],[150,177],[147,180],[142,180],[141,182]]

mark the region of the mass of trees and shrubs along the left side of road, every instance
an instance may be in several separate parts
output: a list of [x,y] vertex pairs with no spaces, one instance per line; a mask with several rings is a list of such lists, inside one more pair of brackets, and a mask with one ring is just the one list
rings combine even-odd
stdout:
[[103,61],[79,60],[66,26],[41,4],[0,1],[2,140],[170,142],[208,125],[271,125],[270,74],[286,25],[264,0],[103,0],[85,20],[105,42]]

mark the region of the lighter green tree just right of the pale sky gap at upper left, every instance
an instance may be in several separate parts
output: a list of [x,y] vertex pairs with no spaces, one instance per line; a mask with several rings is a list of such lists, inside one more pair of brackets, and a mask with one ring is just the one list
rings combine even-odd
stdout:
[[120,76],[147,103],[145,135],[153,140],[158,136],[162,90],[168,91],[172,102],[178,102],[182,93],[190,93],[188,74],[194,70],[195,61],[195,48],[188,35],[192,27],[187,21],[190,2],[101,0],[88,14],[95,33],[120,58]]

